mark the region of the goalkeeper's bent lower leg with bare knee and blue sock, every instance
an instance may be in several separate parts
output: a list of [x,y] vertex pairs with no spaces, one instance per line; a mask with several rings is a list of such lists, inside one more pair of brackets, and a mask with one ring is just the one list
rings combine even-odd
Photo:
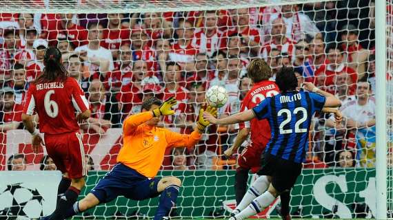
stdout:
[[177,177],[164,177],[159,181],[157,191],[161,192],[161,196],[154,220],[161,220],[168,216],[171,208],[176,204],[180,186],[181,180]]

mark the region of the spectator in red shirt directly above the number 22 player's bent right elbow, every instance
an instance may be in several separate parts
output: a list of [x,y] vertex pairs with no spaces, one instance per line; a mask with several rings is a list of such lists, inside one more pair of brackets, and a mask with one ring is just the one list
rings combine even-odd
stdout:
[[323,87],[326,91],[334,94],[334,76],[341,73],[347,73],[350,80],[350,94],[354,94],[356,90],[356,83],[358,80],[357,73],[354,69],[347,67],[344,62],[343,49],[332,45],[328,48],[328,61],[325,62],[319,69],[316,70],[316,84]]

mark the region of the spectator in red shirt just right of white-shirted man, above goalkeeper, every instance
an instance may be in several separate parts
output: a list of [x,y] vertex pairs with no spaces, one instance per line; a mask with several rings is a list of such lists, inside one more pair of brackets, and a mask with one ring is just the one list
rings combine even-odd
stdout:
[[124,14],[108,14],[108,27],[103,29],[101,46],[112,52],[113,59],[119,58],[120,45],[130,43],[130,30],[123,27]]

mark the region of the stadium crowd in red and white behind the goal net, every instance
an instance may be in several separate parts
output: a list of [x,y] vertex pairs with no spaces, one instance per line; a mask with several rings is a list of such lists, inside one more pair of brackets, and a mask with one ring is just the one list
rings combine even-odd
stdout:
[[[373,2],[144,14],[0,14],[1,152],[6,155],[7,131],[23,129],[23,99],[43,71],[43,52],[53,45],[90,101],[92,117],[82,126],[86,140],[121,128],[152,96],[175,96],[176,114],[165,116],[161,126],[190,133],[205,91],[213,85],[228,91],[220,117],[236,113],[251,88],[245,69],[261,57],[272,68],[272,80],[283,65],[292,66],[299,89],[302,82],[312,82],[342,101],[343,124],[335,126],[332,115],[314,118],[305,167],[373,167]],[[195,148],[168,149],[163,168],[233,168],[234,158],[223,151],[236,132],[236,126],[210,126]],[[89,143],[87,152],[97,144]],[[90,167],[114,165],[117,145],[108,151],[109,159],[86,157]],[[0,170],[25,170],[34,163],[41,170],[55,169],[50,157],[32,156],[28,149],[20,153],[4,157]]]

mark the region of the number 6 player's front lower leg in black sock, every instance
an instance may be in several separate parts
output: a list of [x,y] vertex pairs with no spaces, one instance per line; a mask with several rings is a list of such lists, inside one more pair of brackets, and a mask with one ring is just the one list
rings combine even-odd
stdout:
[[50,220],[64,219],[68,208],[77,201],[81,189],[85,186],[85,178],[77,178],[71,180],[71,186],[64,192],[57,202],[57,208],[50,215]]

